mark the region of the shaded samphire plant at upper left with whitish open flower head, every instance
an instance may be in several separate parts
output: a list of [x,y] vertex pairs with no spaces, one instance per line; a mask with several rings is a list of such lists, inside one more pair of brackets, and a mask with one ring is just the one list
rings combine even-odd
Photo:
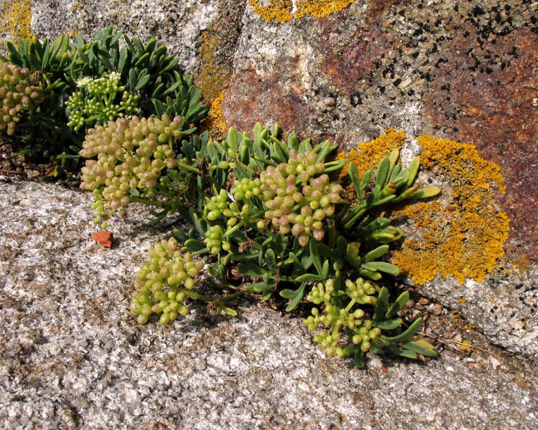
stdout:
[[[17,45],[7,42],[6,48],[7,56],[0,56],[0,97],[6,107],[0,133],[23,148],[19,154],[57,159],[49,179],[65,179],[66,171],[71,180],[77,177],[78,153],[90,128],[164,113],[181,116],[190,128],[207,113],[192,77],[179,72],[179,60],[155,39],[142,43],[106,27],[90,41],[34,37]],[[18,133],[13,133],[15,124]]]

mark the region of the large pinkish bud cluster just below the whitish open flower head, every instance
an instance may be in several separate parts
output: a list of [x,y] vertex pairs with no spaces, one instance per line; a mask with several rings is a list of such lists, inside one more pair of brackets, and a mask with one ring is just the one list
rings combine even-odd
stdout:
[[109,211],[129,203],[129,190],[137,189],[145,197],[152,197],[161,171],[177,166],[171,145],[181,137],[181,123],[181,117],[171,121],[164,114],[161,119],[118,118],[91,128],[80,154],[86,158],[97,155],[97,160],[86,161],[80,188],[103,188],[101,196]]

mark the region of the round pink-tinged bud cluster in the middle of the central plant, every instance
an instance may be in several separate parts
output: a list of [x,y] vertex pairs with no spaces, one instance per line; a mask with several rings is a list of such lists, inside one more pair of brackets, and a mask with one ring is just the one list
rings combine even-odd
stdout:
[[302,246],[311,235],[323,240],[324,221],[342,202],[342,186],[330,183],[324,169],[315,152],[292,149],[288,163],[269,166],[259,177],[259,198],[268,209],[265,218],[280,233],[298,237]]

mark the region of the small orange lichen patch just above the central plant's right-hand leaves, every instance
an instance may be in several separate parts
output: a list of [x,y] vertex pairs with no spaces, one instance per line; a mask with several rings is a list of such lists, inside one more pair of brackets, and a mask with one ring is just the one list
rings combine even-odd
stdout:
[[[403,130],[396,131],[393,128],[385,130],[385,134],[372,142],[361,142],[357,149],[351,149],[348,154],[346,152],[338,152],[336,159],[347,159],[348,163],[353,161],[359,175],[362,177],[365,171],[369,168],[375,169],[379,161],[389,155],[393,149],[402,149],[405,142],[405,132]],[[340,172],[340,178],[348,175],[348,166],[343,166]]]

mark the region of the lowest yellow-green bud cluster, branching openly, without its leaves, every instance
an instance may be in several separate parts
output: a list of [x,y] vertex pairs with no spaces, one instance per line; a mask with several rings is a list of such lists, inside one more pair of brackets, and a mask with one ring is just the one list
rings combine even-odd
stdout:
[[314,336],[314,342],[320,343],[321,348],[326,350],[327,355],[343,357],[343,349],[338,346],[340,340],[339,332],[341,328],[348,328],[353,331],[352,341],[355,345],[360,345],[362,352],[366,352],[372,346],[372,341],[377,342],[381,330],[372,327],[372,321],[364,319],[365,312],[362,309],[353,309],[356,304],[375,305],[377,298],[372,295],[379,291],[379,287],[372,282],[365,282],[358,278],[353,282],[346,280],[346,295],[350,301],[346,302],[346,307],[338,305],[341,300],[334,300],[335,294],[334,279],[329,279],[325,283],[318,283],[307,295],[307,300],[315,305],[323,304],[323,312],[319,312],[317,307],[312,309],[312,315],[305,319],[305,326],[309,331],[315,331],[319,326],[324,326],[327,331],[323,331]]

